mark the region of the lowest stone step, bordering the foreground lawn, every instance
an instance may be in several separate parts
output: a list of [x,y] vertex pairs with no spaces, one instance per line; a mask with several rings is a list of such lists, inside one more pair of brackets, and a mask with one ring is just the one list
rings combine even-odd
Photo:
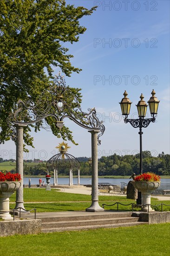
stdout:
[[50,229],[43,228],[41,229],[41,232],[52,233],[52,232],[89,230],[89,229],[113,229],[113,228],[131,227],[131,226],[137,226],[137,225],[143,225],[143,224],[148,224],[148,222],[125,222],[125,223],[115,223],[115,224],[105,224],[105,225],[61,227],[61,228],[50,228]]

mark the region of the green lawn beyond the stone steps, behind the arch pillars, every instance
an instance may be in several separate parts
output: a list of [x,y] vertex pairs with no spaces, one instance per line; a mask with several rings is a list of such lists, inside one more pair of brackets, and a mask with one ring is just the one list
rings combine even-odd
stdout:
[[[16,192],[15,192],[16,193]],[[10,202],[15,202],[16,194],[10,197]],[[51,189],[51,191],[46,191],[46,189],[24,189],[24,202],[25,208],[27,210],[36,208],[37,212],[52,212],[52,211],[78,211],[85,210],[91,205],[91,195],[81,195],[81,194],[71,194],[59,192],[57,189]],[[126,199],[125,196],[107,196],[99,195],[99,205],[113,204],[115,202],[120,202],[122,204],[136,203],[135,200]],[[170,204],[169,201],[158,201],[157,198],[151,198],[151,204],[157,205],[160,203]],[[10,208],[14,208],[14,204],[10,203]],[[160,207],[159,207],[160,208]],[[117,205],[115,206],[105,206],[106,210],[114,209],[117,210]],[[120,210],[131,211],[131,205],[124,206],[119,205]],[[138,210],[138,209],[134,209]],[[163,210],[169,210],[170,206],[163,206]]]

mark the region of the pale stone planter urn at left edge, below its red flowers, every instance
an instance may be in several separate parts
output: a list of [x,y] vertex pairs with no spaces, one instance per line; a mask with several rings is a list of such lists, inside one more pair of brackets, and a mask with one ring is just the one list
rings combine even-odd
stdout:
[[21,182],[0,182],[0,218],[13,220],[9,211],[9,197],[19,189]]

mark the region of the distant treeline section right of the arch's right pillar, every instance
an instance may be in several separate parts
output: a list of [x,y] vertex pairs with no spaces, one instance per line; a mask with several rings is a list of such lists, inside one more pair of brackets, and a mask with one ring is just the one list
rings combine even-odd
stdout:
[[[99,175],[131,175],[139,174],[140,158],[136,155],[102,156],[98,160]],[[151,156],[150,151],[143,151],[143,172],[153,172],[157,175],[170,175],[170,155],[159,154]]]

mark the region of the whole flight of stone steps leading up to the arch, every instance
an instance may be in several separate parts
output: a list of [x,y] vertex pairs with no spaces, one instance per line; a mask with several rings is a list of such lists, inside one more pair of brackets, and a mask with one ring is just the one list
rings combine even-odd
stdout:
[[[148,222],[139,222],[139,216],[132,212],[104,211],[104,212],[47,212],[38,213],[41,219],[41,231],[62,232],[67,230],[117,228],[141,225]],[[33,218],[33,215],[29,217]]]

